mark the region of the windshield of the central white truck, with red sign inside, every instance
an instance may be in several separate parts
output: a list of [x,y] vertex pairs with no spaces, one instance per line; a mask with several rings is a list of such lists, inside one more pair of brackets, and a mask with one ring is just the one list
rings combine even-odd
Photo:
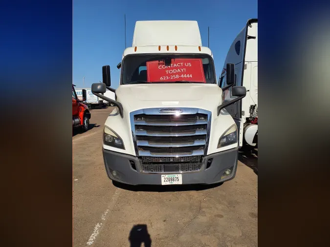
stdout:
[[216,83],[208,55],[130,55],[122,64],[122,83]]

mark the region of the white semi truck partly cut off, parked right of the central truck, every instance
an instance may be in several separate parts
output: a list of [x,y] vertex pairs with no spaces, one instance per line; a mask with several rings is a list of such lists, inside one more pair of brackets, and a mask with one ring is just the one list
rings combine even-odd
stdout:
[[[258,19],[250,19],[231,44],[227,53],[219,86],[225,88],[226,64],[235,64],[235,82],[246,88],[242,101],[226,107],[238,127],[239,146],[258,147]],[[233,87],[224,91],[224,102],[231,101]]]

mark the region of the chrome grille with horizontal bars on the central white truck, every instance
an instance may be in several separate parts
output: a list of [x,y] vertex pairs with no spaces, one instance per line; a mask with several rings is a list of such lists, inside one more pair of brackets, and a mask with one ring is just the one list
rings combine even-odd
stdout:
[[160,113],[162,109],[150,108],[131,113],[136,156],[164,158],[206,155],[211,112],[180,108],[180,114]]

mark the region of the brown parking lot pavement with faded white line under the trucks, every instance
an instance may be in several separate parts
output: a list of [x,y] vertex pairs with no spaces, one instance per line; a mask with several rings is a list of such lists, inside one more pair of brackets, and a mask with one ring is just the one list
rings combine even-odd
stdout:
[[257,173],[242,163],[248,157],[222,185],[113,184],[102,156],[111,110],[91,110],[91,128],[73,132],[74,247],[257,246]]

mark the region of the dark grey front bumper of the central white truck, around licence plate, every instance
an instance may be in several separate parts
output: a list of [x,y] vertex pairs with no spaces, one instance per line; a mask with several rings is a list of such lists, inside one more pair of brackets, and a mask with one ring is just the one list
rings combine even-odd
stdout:
[[[213,158],[206,168],[207,160]],[[182,174],[182,185],[217,184],[231,180],[236,175],[238,147],[205,156],[199,171],[183,173],[143,173],[139,171],[139,159],[135,156],[109,151],[103,148],[103,159],[108,177],[111,180],[129,185],[161,185],[162,174]],[[134,162],[135,169],[131,165]],[[232,173],[221,180],[223,172],[233,167]],[[116,175],[112,175],[115,171]]]

